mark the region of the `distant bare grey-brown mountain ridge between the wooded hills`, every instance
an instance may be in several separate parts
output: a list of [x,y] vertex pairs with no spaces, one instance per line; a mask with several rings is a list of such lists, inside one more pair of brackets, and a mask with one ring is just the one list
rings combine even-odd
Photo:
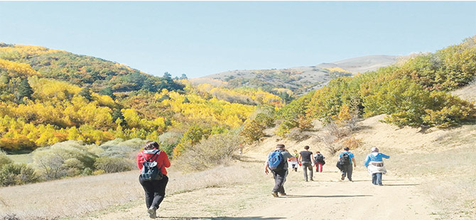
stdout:
[[396,60],[397,56],[370,55],[315,66],[271,70],[232,70],[194,80],[196,83],[203,83],[209,79],[219,79],[228,82],[229,87],[261,87],[267,91],[273,88],[286,88],[296,94],[305,94],[325,86],[335,77],[377,70],[379,67],[394,64]]

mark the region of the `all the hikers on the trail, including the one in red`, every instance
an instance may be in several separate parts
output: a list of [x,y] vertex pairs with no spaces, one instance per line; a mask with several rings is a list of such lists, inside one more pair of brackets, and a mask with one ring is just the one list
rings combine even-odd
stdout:
[[[337,161],[337,167],[342,171],[341,180],[345,180],[347,176],[352,181],[352,165],[356,167],[357,163],[355,163],[354,154],[350,153],[349,148],[344,148],[344,150],[339,155],[340,160]],[[389,156],[379,153],[378,148],[372,148],[371,153],[364,161],[365,167],[372,174],[372,184],[374,185],[382,185],[382,173],[386,173],[382,158],[388,159]],[[286,196],[283,185],[288,175],[288,161],[295,172],[298,171],[298,165],[303,167],[304,180],[307,182],[308,180],[313,181],[313,166],[315,166],[316,172],[323,172],[324,159],[324,155],[319,151],[313,155],[308,145],[300,153],[294,150],[294,155],[291,155],[283,144],[276,145],[276,150],[269,153],[264,166],[264,172],[268,174],[271,171],[274,177],[275,184],[271,194],[274,197]],[[137,167],[141,170],[139,183],[144,188],[146,195],[147,213],[151,219],[155,219],[156,211],[166,195],[168,183],[166,167],[170,167],[171,162],[168,160],[167,154],[163,150],[159,150],[156,141],[148,141],[144,145],[144,150],[137,153],[136,162]]]

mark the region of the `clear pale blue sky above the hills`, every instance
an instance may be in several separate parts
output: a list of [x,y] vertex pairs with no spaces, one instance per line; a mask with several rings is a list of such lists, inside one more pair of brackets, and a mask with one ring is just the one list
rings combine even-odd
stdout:
[[435,52],[476,34],[476,1],[0,1],[0,42],[189,78]]

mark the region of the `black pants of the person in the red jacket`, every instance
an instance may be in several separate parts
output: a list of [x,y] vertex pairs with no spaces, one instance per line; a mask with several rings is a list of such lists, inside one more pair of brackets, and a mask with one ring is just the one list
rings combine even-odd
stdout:
[[139,175],[139,182],[146,192],[147,209],[150,207],[158,209],[158,205],[161,204],[163,197],[166,196],[168,177],[164,175],[162,180],[144,181]]

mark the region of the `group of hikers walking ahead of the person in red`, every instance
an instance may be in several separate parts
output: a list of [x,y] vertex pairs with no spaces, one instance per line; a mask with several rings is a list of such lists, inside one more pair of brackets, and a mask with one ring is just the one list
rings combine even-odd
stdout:
[[[355,156],[349,151],[349,148],[344,148],[344,151],[339,154],[339,160],[337,160],[336,166],[340,169],[342,175],[340,180],[345,180],[345,177],[352,182],[352,170],[353,167],[357,167],[355,162]],[[323,171],[323,165],[325,164],[324,156],[318,151],[314,156],[309,151],[309,146],[306,145],[304,150],[299,154],[297,150],[294,150],[294,155],[291,155],[286,150],[285,145],[276,145],[276,150],[271,151],[268,154],[266,163],[264,164],[264,172],[268,174],[270,171],[274,177],[274,188],[271,194],[274,197],[286,196],[284,191],[284,182],[288,175],[288,161],[291,163],[291,168],[297,172],[297,166],[303,167],[303,175],[305,182],[308,182],[308,170],[309,180],[313,181],[313,166],[316,167],[316,172]],[[383,158],[389,159],[389,155],[379,153],[379,148],[373,147],[370,149],[369,155],[364,160],[364,166],[367,167],[369,174],[372,175],[372,184],[382,186],[382,174],[386,173],[384,167]]]

